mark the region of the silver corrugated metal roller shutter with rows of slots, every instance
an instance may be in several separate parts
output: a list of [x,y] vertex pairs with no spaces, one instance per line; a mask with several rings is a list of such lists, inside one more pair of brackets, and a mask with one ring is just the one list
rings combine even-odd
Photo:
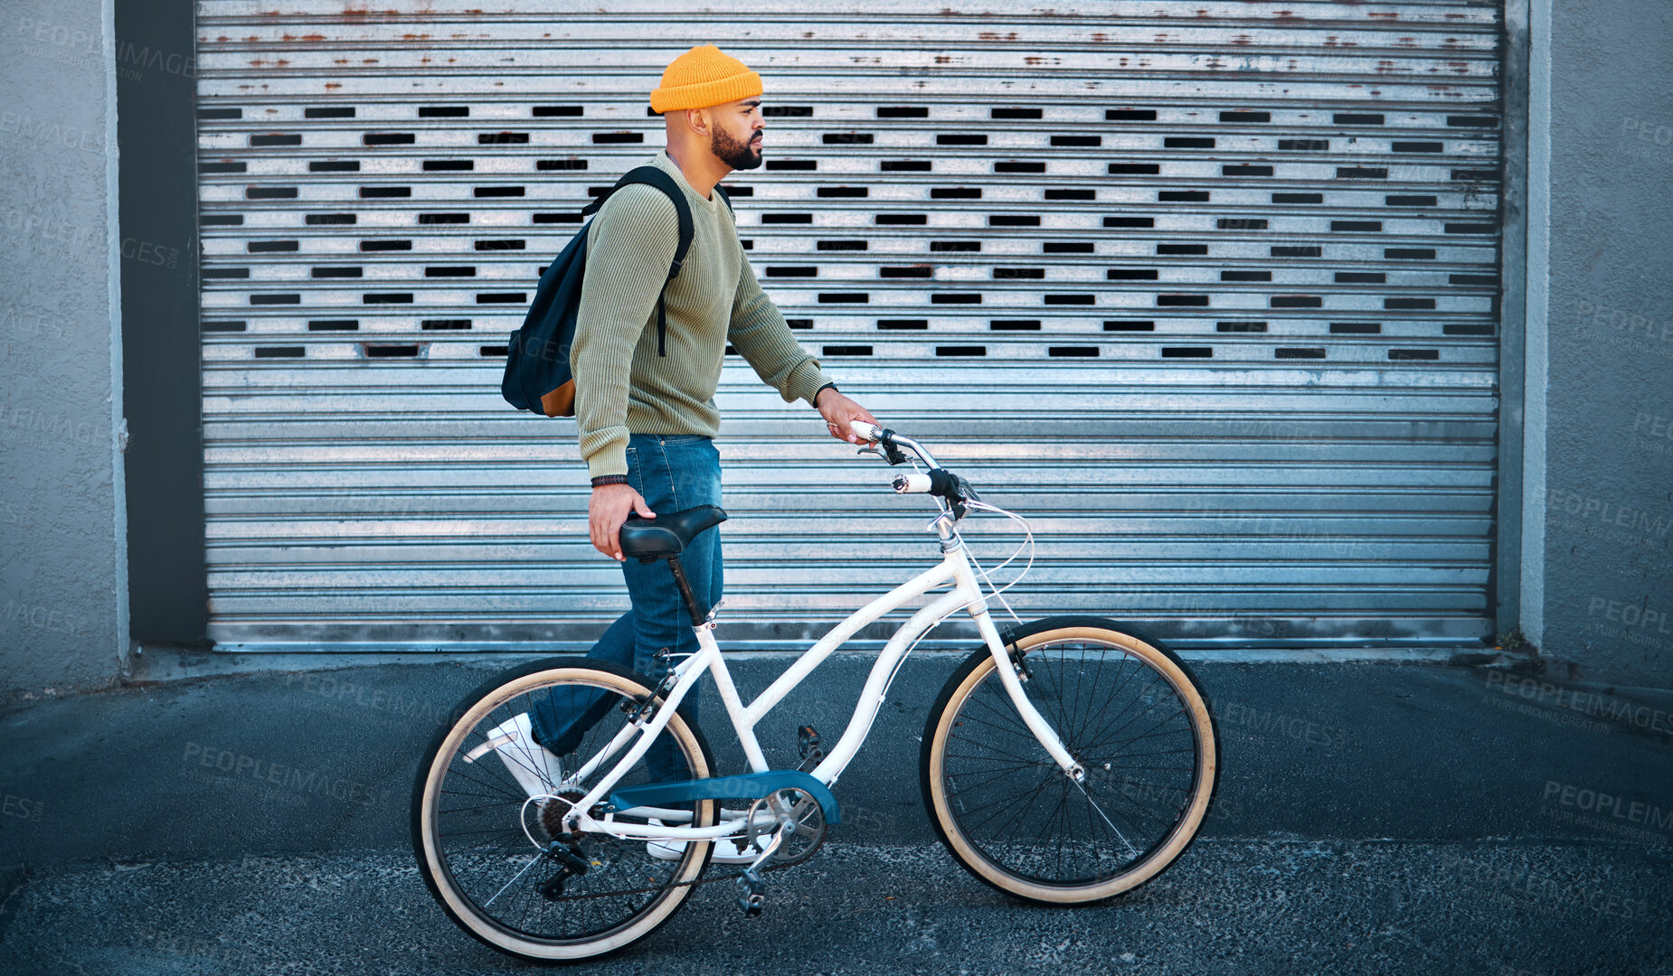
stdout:
[[[766,77],[766,169],[728,180],[758,274],[1032,518],[1019,608],[1491,633],[1496,3],[376,7],[199,3],[216,640],[587,640],[626,605],[574,426],[500,401],[500,348],[704,42]],[[813,411],[736,361],[719,403],[723,637],[935,558]]]

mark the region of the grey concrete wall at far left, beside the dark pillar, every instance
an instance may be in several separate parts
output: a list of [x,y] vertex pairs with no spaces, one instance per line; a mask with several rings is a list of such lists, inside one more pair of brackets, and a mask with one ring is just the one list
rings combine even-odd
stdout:
[[[127,648],[112,5],[0,13],[0,694]],[[141,257],[139,246],[130,249]]]

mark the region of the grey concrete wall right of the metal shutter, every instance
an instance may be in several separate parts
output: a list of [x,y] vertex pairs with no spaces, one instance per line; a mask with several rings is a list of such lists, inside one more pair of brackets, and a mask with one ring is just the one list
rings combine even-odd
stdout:
[[1529,563],[1543,600],[1524,617],[1548,657],[1668,685],[1673,5],[1539,0],[1532,15],[1527,381],[1544,398],[1529,430],[1544,491],[1527,515],[1544,538]]

